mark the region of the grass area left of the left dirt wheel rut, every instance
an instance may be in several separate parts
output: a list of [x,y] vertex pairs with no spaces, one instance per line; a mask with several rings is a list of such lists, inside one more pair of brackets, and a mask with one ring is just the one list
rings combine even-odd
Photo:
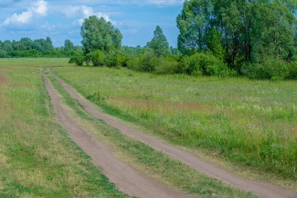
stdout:
[[56,123],[38,69],[17,64],[0,66],[0,197],[128,198]]

